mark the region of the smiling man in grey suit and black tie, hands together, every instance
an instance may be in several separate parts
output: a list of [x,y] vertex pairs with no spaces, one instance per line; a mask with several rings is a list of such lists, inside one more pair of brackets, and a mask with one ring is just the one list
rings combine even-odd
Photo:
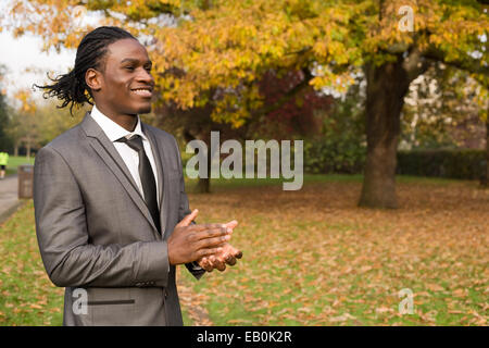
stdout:
[[42,261],[65,287],[64,325],[183,325],[175,266],[200,278],[235,264],[236,221],[198,225],[175,138],[140,122],[154,80],[142,45],[117,27],[82,40],[75,67],[37,86],[62,107],[95,101],[38,151],[34,204]]

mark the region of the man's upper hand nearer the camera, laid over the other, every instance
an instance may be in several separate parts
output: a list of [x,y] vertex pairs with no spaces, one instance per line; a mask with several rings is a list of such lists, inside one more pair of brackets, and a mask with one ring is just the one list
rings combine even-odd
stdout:
[[170,264],[197,261],[202,257],[218,253],[222,246],[230,239],[230,229],[225,224],[190,225],[199,211],[186,215],[168,238]]

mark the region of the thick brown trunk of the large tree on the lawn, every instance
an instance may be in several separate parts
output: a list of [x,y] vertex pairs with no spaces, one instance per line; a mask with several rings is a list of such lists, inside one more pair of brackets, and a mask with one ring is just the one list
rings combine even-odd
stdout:
[[396,165],[401,110],[409,89],[402,58],[365,66],[367,154],[360,207],[397,208]]

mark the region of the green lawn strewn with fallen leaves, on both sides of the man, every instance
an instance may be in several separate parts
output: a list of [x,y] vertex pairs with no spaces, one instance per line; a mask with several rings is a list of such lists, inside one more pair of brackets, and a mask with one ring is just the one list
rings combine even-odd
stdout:
[[[212,195],[189,194],[198,223],[239,221],[243,258],[199,282],[178,268],[187,325],[193,304],[214,325],[487,325],[489,191],[476,182],[399,177],[398,210],[358,208],[361,176],[279,184],[214,181]],[[404,288],[413,314],[399,313]],[[32,202],[0,225],[0,325],[61,324]]]

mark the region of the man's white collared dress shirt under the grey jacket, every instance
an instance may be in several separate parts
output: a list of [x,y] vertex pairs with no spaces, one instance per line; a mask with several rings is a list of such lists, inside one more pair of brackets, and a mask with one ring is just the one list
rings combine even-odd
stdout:
[[156,197],[158,197],[158,207],[160,208],[160,195],[158,195],[159,183],[156,174],[156,165],[154,162],[153,151],[151,150],[151,145],[148,141],[147,136],[142,133],[141,129],[141,120],[138,117],[138,123],[136,124],[136,128],[134,132],[129,132],[124,127],[116,124],[114,121],[105,116],[96,105],[91,109],[90,113],[91,117],[98,123],[98,125],[102,128],[102,130],[108,136],[109,140],[112,141],[115,149],[117,150],[121,158],[126,163],[127,169],[129,170],[130,175],[133,175],[136,185],[139,188],[139,191],[142,197],[145,197],[145,192],[142,190],[141,178],[139,177],[139,154],[136,150],[133,150],[127,144],[117,141],[122,137],[126,137],[127,139],[134,135],[139,135],[142,138],[142,146],[145,147],[146,156],[148,157],[151,169],[153,170],[154,182],[156,183]]

